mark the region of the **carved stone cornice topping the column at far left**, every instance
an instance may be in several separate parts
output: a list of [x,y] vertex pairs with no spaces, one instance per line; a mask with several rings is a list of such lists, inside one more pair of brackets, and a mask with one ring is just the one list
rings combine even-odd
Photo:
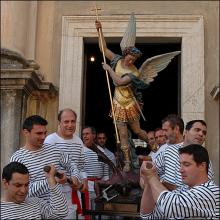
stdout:
[[48,93],[48,97],[56,96],[58,88],[43,80],[39,68],[34,60],[26,60],[15,51],[1,48],[1,90],[24,90],[27,95],[39,91]]

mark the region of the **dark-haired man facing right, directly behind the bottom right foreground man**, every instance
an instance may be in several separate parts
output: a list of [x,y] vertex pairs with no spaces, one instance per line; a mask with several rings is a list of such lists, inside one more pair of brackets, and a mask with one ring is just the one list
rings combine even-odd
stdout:
[[[162,182],[170,189],[176,189],[176,187],[183,186],[181,174],[179,172],[179,148],[187,146],[189,144],[202,145],[205,141],[207,133],[206,123],[203,120],[192,120],[186,124],[184,131],[184,142],[181,144],[170,145],[166,148],[163,154],[163,161],[161,158],[157,158],[155,165],[157,169],[163,166],[164,174]],[[158,161],[162,161],[162,165],[158,166]],[[214,176],[212,170],[212,164],[210,161],[208,177],[212,179]]]

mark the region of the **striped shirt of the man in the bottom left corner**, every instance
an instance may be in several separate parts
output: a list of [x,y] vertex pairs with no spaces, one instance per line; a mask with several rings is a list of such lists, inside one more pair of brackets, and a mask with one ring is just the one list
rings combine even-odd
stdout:
[[58,184],[50,188],[49,202],[37,197],[20,204],[1,202],[1,219],[61,219],[67,213],[67,202]]

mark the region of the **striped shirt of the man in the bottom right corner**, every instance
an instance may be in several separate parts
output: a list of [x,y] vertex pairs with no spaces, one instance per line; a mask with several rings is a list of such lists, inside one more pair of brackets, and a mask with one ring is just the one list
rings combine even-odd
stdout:
[[219,219],[219,186],[208,181],[191,189],[178,188],[159,195],[155,209],[148,214],[140,213],[145,219]]

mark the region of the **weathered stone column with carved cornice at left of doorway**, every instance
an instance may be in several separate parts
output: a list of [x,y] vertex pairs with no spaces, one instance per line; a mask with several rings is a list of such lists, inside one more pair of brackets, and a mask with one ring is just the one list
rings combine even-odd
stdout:
[[38,69],[34,61],[27,61],[14,51],[1,49],[1,168],[20,147],[28,97],[36,93],[39,97],[47,94],[48,99],[41,103],[41,108],[44,108],[51,97],[57,95],[56,88],[43,81]]

